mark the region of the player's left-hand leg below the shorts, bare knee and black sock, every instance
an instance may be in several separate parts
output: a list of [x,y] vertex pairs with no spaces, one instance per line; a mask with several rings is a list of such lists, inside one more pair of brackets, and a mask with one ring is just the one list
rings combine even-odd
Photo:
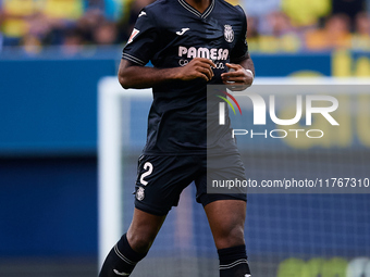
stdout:
[[127,232],[109,252],[99,277],[130,276],[148,253],[164,218],[165,215],[152,215],[135,209]]

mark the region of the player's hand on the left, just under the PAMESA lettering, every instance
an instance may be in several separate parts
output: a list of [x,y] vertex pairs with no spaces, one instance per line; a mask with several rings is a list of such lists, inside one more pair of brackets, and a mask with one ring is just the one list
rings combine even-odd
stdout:
[[212,67],[215,67],[215,64],[211,60],[195,58],[185,66],[176,67],[174,70],[177,71],[176,75],[181,80],[202,78],[206,81],[209,81],[214,76]]

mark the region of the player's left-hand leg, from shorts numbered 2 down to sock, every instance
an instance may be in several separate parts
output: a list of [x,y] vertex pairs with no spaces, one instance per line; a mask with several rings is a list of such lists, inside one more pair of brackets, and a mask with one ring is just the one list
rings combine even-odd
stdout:
[[135,211],[127,234],[109,253],[99,277],[128,276],[145,257],[165,215],[196,171],[193,156],[139,158]]

